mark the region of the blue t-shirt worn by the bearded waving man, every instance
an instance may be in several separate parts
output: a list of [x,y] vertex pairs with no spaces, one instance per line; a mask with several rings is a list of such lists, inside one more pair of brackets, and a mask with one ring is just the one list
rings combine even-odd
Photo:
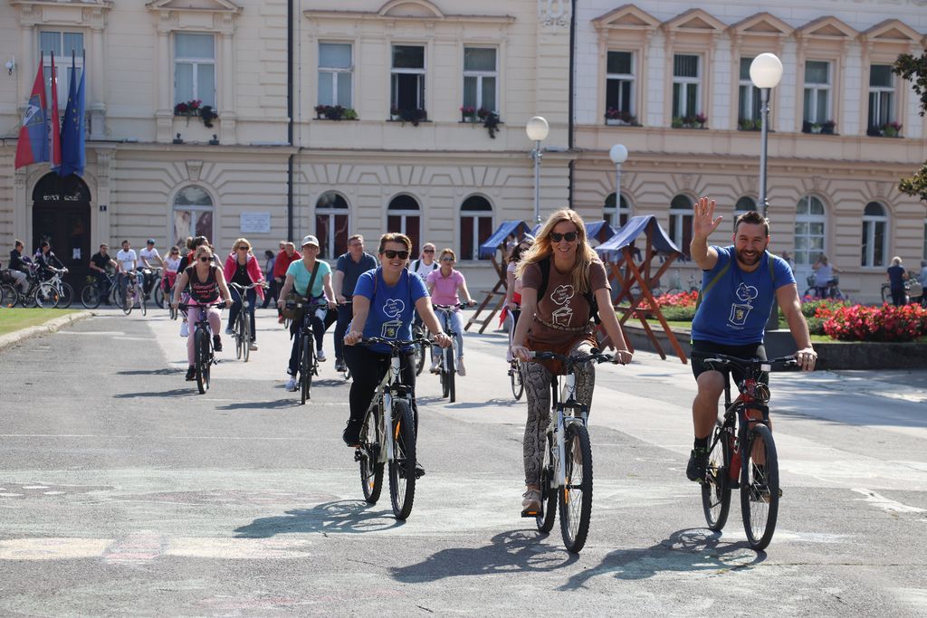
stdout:
[[[788,262],[768,251],[753,272],[742,271],[733,246],[715,246],[717,264],[702,273],[702,289],[718,276],[715,284],[702,294],[702,304],[692,320],[692,341],[710,341],[724,346],[763,343],[763,334],[775,290],[795,283]],[[775,283],[769,272],[772,259]],[[726,269],[726,270],[725,270]]]

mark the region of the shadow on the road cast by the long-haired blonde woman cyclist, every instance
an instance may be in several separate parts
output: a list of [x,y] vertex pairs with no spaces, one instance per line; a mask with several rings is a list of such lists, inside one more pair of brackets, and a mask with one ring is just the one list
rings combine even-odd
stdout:
[[533,530],[503,532],[480,548],[441,549],[425,561],[393,567],[390,576],[400,582],[433,582],[459,575],[549,572],[578,561],[577,554],[543,543],[548,535]]

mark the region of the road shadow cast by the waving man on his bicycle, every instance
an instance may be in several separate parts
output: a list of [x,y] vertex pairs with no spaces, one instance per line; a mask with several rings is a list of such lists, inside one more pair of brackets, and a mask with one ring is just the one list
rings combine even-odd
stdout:
[[745,541],[722,542],[719,532],[706,528],[679,530],[646,549],[616,549],[602,562],[572,575],[561,590],[586,587],[593,577],[611,575],[616,579],[649,579],[666,573],[718,574],[749,569],[766,560],[766,552],[756,552]]

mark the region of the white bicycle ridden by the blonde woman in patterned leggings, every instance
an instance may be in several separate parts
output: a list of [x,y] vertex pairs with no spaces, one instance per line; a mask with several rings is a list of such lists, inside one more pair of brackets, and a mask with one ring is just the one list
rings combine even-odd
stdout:
[[560,508],[560,533],[568,551],[578,553],[586,544],[592,515],[592,445],[587,421],[589,409],[576,400],[578,365],[608,362],[610,354],[593,349],[590,354],[564,356],[556,352],[532,352],[535,360],[559,360],[565,375],[551,379],[551,424],[540,468],[540,511],[523,511],[534,517],[541,532],[553,528]]

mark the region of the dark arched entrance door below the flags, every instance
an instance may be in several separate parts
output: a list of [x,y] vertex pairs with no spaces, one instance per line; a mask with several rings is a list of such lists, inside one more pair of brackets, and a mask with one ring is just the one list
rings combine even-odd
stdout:
[[43,240],[68,270],[66,281],[81,293],[90,269],[90,190],[79,176],[61,178],[45,174],[32,191],[32,246],[35,251]]

